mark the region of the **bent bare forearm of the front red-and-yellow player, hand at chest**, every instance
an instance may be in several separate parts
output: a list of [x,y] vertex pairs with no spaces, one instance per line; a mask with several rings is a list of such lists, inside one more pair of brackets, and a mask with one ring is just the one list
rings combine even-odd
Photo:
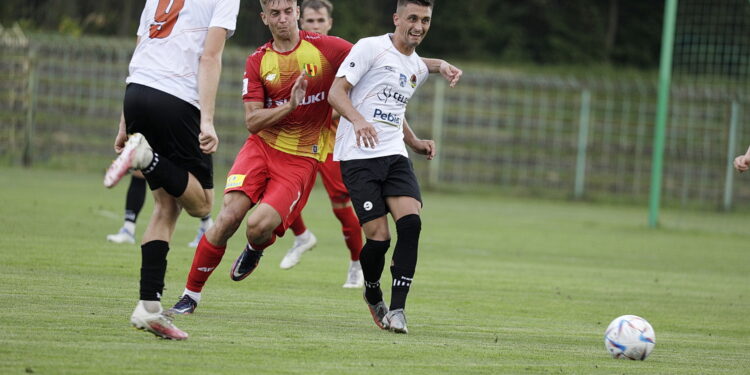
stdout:
[[245,127],[247,131],[256,134],[269,128],[294,111],[299,103],[305,99],[307,91],[307,80],[305,75],[300,74],[292,86],[292,95],[289,101],[273,108],[264,108],[262,102],[245,102]]

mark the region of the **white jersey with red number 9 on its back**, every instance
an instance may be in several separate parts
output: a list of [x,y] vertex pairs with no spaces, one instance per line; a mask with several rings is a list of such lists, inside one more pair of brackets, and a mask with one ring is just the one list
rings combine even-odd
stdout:
[[230,37],[239,7],[240,0],[147,0],[126,82],[164,91],[200,109],[198,64],[208,28],[227,29]]

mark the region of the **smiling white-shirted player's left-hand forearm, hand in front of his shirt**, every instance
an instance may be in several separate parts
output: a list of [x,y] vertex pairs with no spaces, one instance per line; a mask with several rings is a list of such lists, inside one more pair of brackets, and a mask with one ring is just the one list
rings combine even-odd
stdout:
[[[328,103],[331,107],[340,113],[341,116],[349,120],[354,125],[354,133],[357,135],[357,147],[375,148],[378,144],[378,132],[362,114],[354,108],[352,100],[349,98],[349,92],[352,91],[352,84],[346,80],[346,77],[336,77],[328,92]],[[360,143],[361,142],[361,143]]]

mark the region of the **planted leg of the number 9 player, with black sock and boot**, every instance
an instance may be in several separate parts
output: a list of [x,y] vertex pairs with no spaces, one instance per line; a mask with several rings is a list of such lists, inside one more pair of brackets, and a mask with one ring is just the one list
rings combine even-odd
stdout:
[[161,306],[169,241],[181,209],[174,197],[163,189],[154,190],[153,196],[154,212],[141,245],[140,300],[130,321],[136,328],[155,335],[184,340],[188,337],[187,333],[172,324],[163,314]]

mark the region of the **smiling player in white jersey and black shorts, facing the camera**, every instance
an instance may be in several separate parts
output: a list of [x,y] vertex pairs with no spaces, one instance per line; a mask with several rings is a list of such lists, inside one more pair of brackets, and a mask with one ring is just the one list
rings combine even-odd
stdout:
[[[336,73],[329,102],[341,114],[334,160],[341,161],[344,183],[365,232],[360,254],[365,302],[378,327],[407,333],[406,296],[417,265],[422,198],[405,144],[435,156],[435,143],[422,140],[405,122],[406,105],[428,76],[416,53],[432,20],[431,0],[398,0],[392,34],[361,39]],[[431,71],[433,69],[430,69]],[[454,86],[462,74],[445,61],[440,71]],[[380,276],[391,235],[387,214],[396,223],[391,259],[390,308],[383,301]]]

